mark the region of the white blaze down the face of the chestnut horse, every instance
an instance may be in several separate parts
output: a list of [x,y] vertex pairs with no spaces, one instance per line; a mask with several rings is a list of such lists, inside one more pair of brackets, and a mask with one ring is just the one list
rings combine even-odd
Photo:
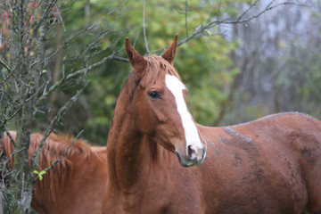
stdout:
[[169,91],[174,95],[177,103],[177,111],[182,119],[183,128],[185,130],[186,151],[189,145],[202,148],[202,142],[197,128],[185,103],[183,95],[183,90],[186,89],[185,85],[177,77],[169,74],[166,75],[165,84],[169,88]]

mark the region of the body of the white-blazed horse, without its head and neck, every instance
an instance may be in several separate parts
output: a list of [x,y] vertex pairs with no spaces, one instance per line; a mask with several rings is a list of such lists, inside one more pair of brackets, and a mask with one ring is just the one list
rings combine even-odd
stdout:
[[[105,213],[320,211],[320,121],[284,113],[243,125],[198,129],[207,143],[207,158],[187,169],[173,153],[144,137],[134,151],[144,154],[140,161],[149,164],[138,165],[130,175],[122,165],[125,172],[119,173],[118,185],[108,185]],[[125,177],[130,188],[116,187]]]

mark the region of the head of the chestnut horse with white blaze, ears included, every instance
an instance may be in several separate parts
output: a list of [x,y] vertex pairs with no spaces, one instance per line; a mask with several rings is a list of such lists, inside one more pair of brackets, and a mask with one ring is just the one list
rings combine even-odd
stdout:
[[201,164],[205,159],[205,145],[187,108],[187,88],[173,67],[177,36],[161,56],[143,57],[128,37],[126,51],[136,78],[130,112],[136,128],[176,153],[183,167]]

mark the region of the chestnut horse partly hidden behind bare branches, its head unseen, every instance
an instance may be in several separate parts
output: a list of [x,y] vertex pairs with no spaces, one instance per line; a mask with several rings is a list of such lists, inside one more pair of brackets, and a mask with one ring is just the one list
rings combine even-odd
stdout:
[[[11,132],[15,139],[16,133]],[[37,151],[43,139],[40,134],[30,137],[29,156]],[[41,151],[38,169],[52,165],[66,151],[72,139],[50,135]],[[14,151],[9,137],[4,134],[1,150],[6,157]],[[12,164],[12,160],[11,160]],[[106,149],[77,140],[70,146],[62,161],[45,173],[34,185],[31,207],[38,213],[101,213],[103,189],[106,185]]]

